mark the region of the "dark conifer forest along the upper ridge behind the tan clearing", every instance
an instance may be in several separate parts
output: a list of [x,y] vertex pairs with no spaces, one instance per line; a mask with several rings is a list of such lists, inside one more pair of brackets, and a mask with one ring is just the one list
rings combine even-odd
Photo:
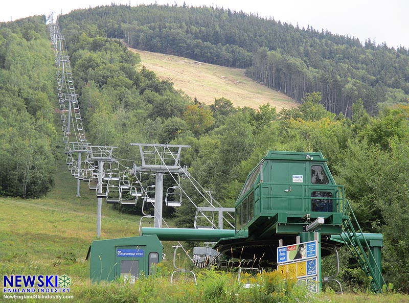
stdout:
[[98,27],[133,48],[247,68],[249,77],[301,102],[320,91],[327,110],[350,117],[361,99],[370,114],[407,104],[409,54],[368,39],[300,29],[226,8],[104,6],[60,17],[62,28]]

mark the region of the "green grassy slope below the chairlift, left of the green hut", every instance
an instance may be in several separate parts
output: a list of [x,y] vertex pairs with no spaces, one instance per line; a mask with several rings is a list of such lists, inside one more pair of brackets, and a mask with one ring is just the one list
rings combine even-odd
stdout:
[[[0,274],[68,274],[85,278],[85,256],[96,239],[97,198],[61,165],[56,185],[45,198],[0,198]],[[135,236],[139,220],[103,204],[101,239]]]

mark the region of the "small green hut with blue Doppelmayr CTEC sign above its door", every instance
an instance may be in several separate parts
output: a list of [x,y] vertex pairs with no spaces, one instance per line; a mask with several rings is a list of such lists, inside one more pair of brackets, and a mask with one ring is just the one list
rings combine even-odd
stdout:
[[162,260],[163,247],[155,235],[93,241],[86,259],[94,282],[134,283],[141,272],[151,274]]

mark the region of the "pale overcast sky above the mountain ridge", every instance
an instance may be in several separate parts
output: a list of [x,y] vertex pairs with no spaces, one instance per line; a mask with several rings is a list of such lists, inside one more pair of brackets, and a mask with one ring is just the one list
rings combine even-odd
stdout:
[[[3,0],[0,5],[0,21],[16,20],[33,15],[48,15],[50,11],[66,14],[78,8],[100,5],[130,4],[183,5],[184,0]],[[186,4],[214,6],[246,13],[258,13],[260,17],[274,17],[276,21],[291,23],[300,28],[312,26],[315,30],[359,38],[361,43],[370,38],[376,44],[409,48],[407,14],[408,0],[185,0]]]

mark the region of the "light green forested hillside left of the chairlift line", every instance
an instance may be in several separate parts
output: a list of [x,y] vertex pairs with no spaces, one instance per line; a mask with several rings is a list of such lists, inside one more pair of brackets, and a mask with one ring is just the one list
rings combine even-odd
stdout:
[[39,197],[53,185],[54,56],[44,17],[0,22],[0,195]]

